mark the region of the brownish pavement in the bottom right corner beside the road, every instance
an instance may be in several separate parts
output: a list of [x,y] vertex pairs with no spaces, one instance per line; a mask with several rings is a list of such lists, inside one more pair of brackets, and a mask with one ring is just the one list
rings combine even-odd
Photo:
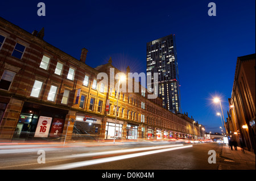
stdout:
[[229,146],[223,145],[221,158],[224,161],[219,166],[219,170],[255,170],[255,154],[238,147],[231,150]]

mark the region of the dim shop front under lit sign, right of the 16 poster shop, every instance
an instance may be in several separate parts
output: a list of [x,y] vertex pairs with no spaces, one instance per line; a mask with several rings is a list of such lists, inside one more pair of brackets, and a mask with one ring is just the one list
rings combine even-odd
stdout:
[[76,114],[72,140],[98,140],[101,134],[102,117]]

